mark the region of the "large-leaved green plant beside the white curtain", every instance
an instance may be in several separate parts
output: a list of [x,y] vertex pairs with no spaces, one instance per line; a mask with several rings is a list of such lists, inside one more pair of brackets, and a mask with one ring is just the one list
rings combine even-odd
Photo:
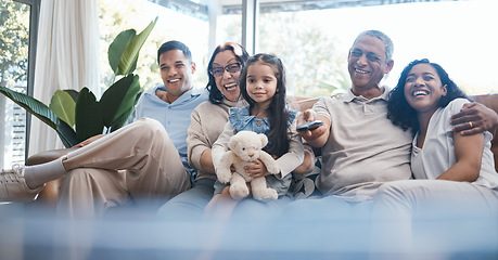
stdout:
[[135,29],[122,31],[108,47],[108,64],[115,81],[98,101],[85,87],[58,90],[49,106],[21,92],[0,87],[0,92],[53,128],[65,147],[100,133],[123,127],[135,109],[140,95],[139,76],[133,75],[140,49],[154,28],[157,17],[137,35]]

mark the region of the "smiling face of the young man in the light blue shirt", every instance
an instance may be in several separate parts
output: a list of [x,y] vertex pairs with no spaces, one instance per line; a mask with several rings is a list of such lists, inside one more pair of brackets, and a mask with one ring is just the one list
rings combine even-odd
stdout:
[[171,50],[159,56],[161,78],[170,102],[192,88],[195,63],[190,62],[181,50]]

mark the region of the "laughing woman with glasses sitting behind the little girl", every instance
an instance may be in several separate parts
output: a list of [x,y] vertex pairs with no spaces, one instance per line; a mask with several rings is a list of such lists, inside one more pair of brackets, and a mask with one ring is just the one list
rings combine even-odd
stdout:
[[199,220],[213,198],[216,173],[210,148],[228,121],[230,107],[242,103],[239,77],[247,58],[244,48],[233,42],[222,43],[213,52],[207,65],[209,101],[192,112],[187,138],[189,164],[197,170],[197,176],[190,190],[159,209],[159,220]]

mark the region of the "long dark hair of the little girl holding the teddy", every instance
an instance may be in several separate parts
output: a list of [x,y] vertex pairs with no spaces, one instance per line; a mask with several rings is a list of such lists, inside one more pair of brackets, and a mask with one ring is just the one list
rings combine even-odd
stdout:
[[267,136],[271,143],[267,152],[272,155],[282,156],[289,152],[288,121],[290,113],[285,105],[285,68],[283,67],[282,61],[272,54],[259,53],[247,60],[239,79],[239,84],[242,96],[250,104],[250,110],[254,107],[256,102],[247,94],[247,68],[256,62],[266,63],[274,67],[277,70],[274,74],[274,77],[277,78],[277,91],[271,99],[267,113],[270,122],[270,131],[267,133]]

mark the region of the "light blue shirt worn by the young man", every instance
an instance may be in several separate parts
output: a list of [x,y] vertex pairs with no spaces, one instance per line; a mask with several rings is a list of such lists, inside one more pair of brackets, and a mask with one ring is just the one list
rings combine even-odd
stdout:
[[146,90],[137,103],[133,120],[149,117],[163,123],[193,182],[196,172],[189,166],[187,158],[187,129],[190,126],[190,114],[199,104],[208,100],[209,92],[206,89],[191,89],[168,104],[155,94],[156,90],[166,91],[166,88],[159,84]]

